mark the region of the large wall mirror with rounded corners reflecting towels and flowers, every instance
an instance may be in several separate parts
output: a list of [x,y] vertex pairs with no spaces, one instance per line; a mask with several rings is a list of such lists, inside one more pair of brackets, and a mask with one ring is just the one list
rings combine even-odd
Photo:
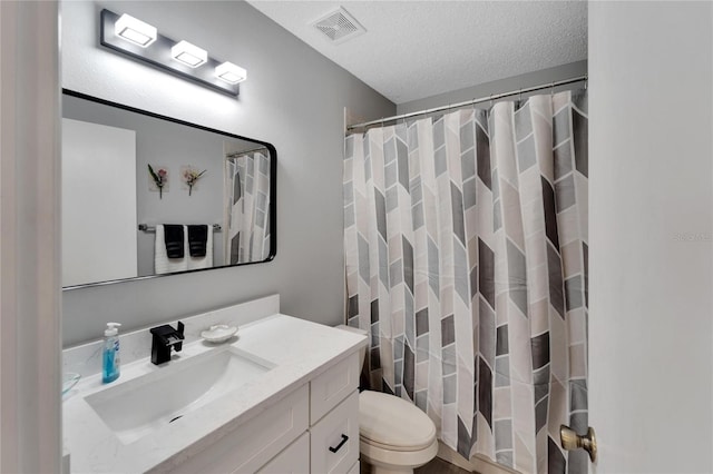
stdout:
[[275,148],[62,95],[62,287],[272,260]]

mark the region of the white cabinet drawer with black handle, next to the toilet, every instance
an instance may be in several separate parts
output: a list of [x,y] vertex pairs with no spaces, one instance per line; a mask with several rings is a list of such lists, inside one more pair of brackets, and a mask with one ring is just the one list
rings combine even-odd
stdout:
[[310,428],[312,472],[348,473],[359,460],[359,392]]

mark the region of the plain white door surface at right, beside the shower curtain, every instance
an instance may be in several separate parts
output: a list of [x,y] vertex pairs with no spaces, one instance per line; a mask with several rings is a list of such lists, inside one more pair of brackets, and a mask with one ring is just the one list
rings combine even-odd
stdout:
[[712,4],[589,3],[599,473],[713,472]]

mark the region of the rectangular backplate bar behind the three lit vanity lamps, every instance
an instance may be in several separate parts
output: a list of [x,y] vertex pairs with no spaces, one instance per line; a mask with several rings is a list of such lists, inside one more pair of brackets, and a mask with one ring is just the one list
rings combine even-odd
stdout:
[[[159,32],[156,33],[156,39],[149,43],[150,46],[147,48],[143,47],[139,45],[140,37],[138,37],[139,42],[135,42],[128,40],[126,36],[119,36],[117,33],[116,23],[119,18],[119,14],[110,10],[101,10],[100,42],[104,47],[126,55],[133,59],[148,62],[156,68],[168,71],[184,79],[189,79],[219,92],[227,93],[233,97],[236,97],[240,93],[240,81],[229,82],[226,78],[222,78],[217,75],[216,68],[225,63],[224,61],[211,58],[206,51],[201,50],[201,48],[195,46],[194,48],[197,48],[205,53],[204,62],[191,66],[192,62],[195,63],[197,60],[203,59],[202,53],[196,50],[193,50],[193,52],[184,50],[184,55],[178,55],[183,60],[174,59],[172,53],[174,47],[180,45],[183,41],[174,41]],[[193,58],[186,55],[191,55]],[[244,69],[240,69],[245,72]],[[235,79],[235,77],[229,75],[227,77]]]

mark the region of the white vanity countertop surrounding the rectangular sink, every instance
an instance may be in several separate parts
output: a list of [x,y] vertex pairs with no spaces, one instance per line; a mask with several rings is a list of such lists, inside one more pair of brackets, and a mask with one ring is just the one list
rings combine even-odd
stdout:
[[[89,376],[65,397],[64,441],[72,473],[169,471],[202,452],[238,424],[260,416],[266,406],[367,345],[364,336],[276,314],[241,326],[237,340],[226,343],[275,364],[256,381],[185,414],[140,440],[124,444],[101,421],[85,396],[164,368],[149,358],[121,367],[108,385],[101,374]],[[195,342],[184,345],[167,365],[224,345]],[[189,383],[189,381],[186,381]]]

